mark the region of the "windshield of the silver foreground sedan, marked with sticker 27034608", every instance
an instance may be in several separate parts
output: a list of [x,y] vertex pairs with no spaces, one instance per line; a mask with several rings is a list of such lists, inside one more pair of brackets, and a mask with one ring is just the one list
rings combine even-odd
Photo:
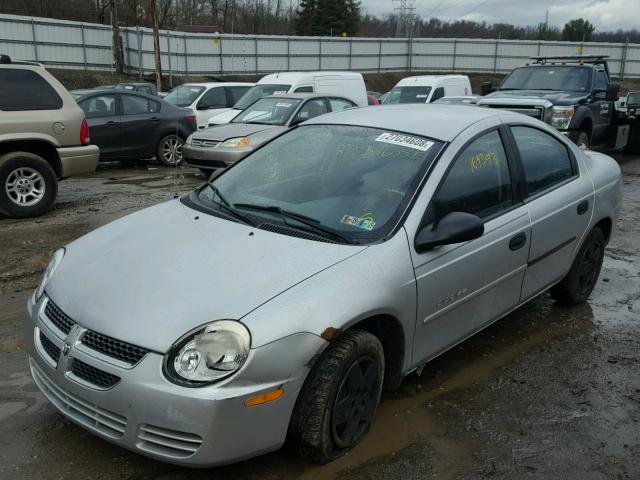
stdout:
[[334,241],[370,243],[397,225],[442,146],[378,128],[304,125],[249,155],[191,198],[215,212],[221,210],[221,195],[225,208],[258,226],[309,230],[315,225],[314,233],[333,232]]

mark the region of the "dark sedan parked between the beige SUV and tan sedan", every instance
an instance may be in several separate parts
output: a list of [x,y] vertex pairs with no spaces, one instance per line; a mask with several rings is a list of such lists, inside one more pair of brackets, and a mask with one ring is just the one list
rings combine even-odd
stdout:
[[164,165],[182,162],[182,145],[196,130],[191,110],[128,90],[72,92],[87,116],[101,160],[156,157]]

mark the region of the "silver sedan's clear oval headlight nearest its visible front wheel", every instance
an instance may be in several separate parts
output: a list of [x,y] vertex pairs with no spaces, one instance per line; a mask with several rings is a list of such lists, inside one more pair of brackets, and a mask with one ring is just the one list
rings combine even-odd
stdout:
[[249,356],[251,335],[242,323],[218,320],[179,340],[165,367],[171,380],[200,386],[238,371]]

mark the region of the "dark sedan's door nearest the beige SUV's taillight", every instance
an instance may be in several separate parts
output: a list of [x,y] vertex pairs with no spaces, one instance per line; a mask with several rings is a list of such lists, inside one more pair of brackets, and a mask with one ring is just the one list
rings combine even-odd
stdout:
[[91,143],[100,147],[100,158],[117,157],[122,148],[119,95],[93,95],[79,105],[89,125]]

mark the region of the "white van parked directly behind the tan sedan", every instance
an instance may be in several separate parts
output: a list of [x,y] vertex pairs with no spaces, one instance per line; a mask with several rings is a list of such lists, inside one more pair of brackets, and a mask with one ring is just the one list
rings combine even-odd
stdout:
[[209,119],[209,126],[229,123],[238,113],[262,97],[276,93],[335,93],[353,100],[359,106],[368,105],[364,78],[355,72],[281,72],[262,77],[233,106],[233,109]]

